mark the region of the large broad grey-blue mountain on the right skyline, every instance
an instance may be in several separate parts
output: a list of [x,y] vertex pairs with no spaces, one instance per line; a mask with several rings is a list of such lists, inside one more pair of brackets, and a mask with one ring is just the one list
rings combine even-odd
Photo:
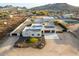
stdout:
[[31,10],[55,10],[55,11],[78,10],[78,9],[79,7],[72,6],[67,3],[47,4],[47,5],[31,8]]

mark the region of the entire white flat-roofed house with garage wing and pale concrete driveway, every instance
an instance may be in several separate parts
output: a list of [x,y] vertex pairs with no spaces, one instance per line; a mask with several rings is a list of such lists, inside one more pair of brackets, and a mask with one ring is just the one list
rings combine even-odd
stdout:
[[32,24],[31,27],[25,27],[22,31],[23,37],[41,37],[44,35],[45,39],[59,39],[56,34],[55,25],[48,23],[47,25]]

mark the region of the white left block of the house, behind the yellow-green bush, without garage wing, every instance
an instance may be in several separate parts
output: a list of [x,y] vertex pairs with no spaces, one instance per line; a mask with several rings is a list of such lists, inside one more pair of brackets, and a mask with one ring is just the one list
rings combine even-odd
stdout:
[[31,27],[25,27],[22,31],[23,37],[41,37],[42,36],[42,24],[32,24]]

